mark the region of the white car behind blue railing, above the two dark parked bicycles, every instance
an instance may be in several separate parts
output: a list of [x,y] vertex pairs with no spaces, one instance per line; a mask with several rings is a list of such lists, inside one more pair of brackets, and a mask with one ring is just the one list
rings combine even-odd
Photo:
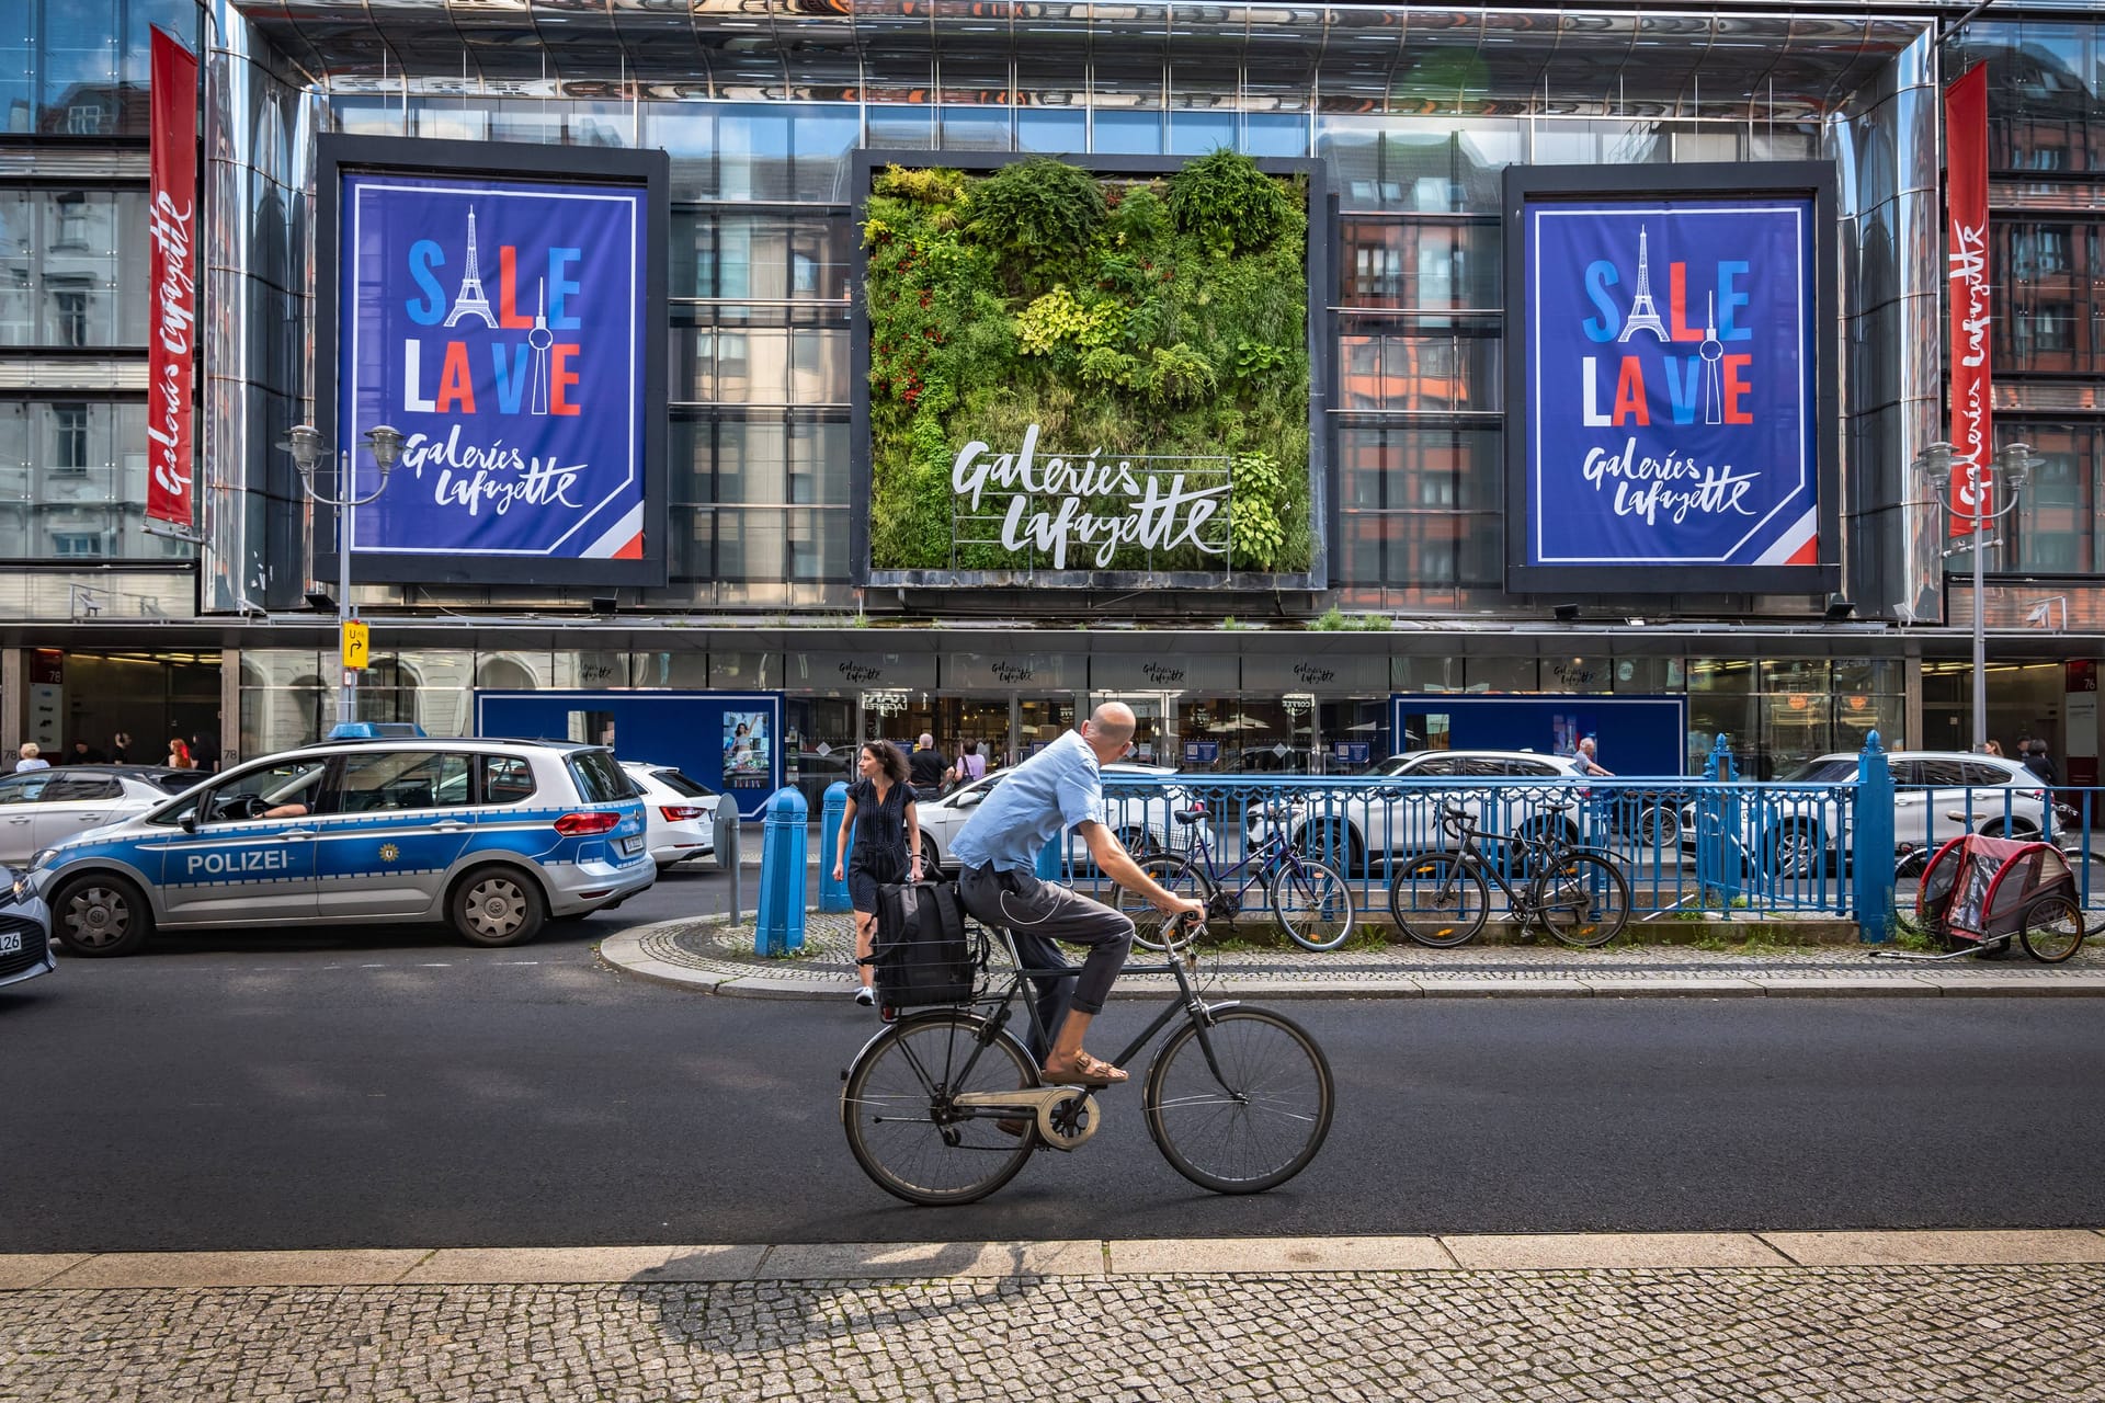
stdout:
[[[1440,829],[1440,810],[1448,801],[1459,801],[1469,820],[1488,833],[1532,835],[1553,822],[1577,841],[1581,804],[1589,797],[1577,759],[1535,751],[1410,751],[1377,761],[1366,774],[1389,782],[1356,778],[1328,795],[1307,789],[1288,793],[1282,820],[1288,841],[1318,856],[1343,846],[1345,871],[1362,871],[1368,854],[1452,846]],[[1469,780],[1482,780],[1482,787]],[[1269,820],[1263,806],[1255,806],[1244,822],[1250,841],[1257,841]]]

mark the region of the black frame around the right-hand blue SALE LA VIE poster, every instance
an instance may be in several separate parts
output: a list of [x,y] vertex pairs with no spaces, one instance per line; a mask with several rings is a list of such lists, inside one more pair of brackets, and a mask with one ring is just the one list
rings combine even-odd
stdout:
[[[1817,595],[1842,585],[1842,332],[1840,227],[1831,160],[1690,162],[1644,166],[1507,166],[1501,191],[1505,238],[1505,589],[1513,595],[1770,593]],[[1819,564],[1812,566],[1530,566],[1528,551],[1528,204],[1596,198],[1810,198],[1812,200],[1812,383],[1819,416],[1815,490]],[[1516,423],[1518,421],[1518,423]]]

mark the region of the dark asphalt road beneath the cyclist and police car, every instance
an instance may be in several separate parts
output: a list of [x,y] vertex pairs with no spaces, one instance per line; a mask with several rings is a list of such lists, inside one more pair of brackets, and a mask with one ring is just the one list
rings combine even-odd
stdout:
[[838,1125],[867,1012],[594,959],[718,883],[516,951],[189,936],[0,991],[0,1252],[2105,1222],[2088,999],[1297,1003],[1341,1098],[1292,1184],[1185,1184],[1120,1090],[1080,1153],[911,1209]]

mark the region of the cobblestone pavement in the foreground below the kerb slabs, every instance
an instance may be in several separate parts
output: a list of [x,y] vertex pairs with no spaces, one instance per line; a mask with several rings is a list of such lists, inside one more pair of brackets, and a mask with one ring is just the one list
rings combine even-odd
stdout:
[[2105,1266],[0,1294],[0,1399],[2105,1397]]

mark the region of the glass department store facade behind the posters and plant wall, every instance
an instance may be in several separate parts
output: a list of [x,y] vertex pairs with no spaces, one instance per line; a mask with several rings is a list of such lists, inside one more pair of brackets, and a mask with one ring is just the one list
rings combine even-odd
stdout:
[[[1337,743],[1366,745],[1379,759],[1394,745],[1391,690],[1684,694],[1690,764],[1713,734],[1728,734],[1749,774],[1855,749],[1871,726],[1901,740],[1911,717],[1897,635],[1859,644],[1836,633],[1804,646],[1825,648],[1825,658],[1768,656],[1768,642],[1732,637],[1701,652],[1659,652],[1665,644],[1652,637],[1655,652],[1623,654],[1608,612],[1629,610],[1591,604],[1585,642],[1568,656],[1526,635],[1547,627],[1547,606],[1503,587],[1513,406],[1503,400],[1501,175],[1516,162],[1842,158],[1844,284],[1861,301],[1844,307],[1855,377],[1844,389],[1844,528],[1852,560],[1899,555],[1888,536],[1901,532],[1892,505],[1905,496],[1903,444],[1920,438],[1903,421],[1941,421],[1941,408],[1926,408],[1941,393],[1934,364],[1899,366],[1897,355],[1916,322],[1894,309],[1934,303],[1941,286],[1941,267],[1928,282],[1903,269],[1918,244],[1937,263],[1934,240],[1911,231],[1909,202],[1930,189],[1934,206],[1932,84],[1972,59],[1991,63],[1998,440],[2023,438],[2042,459],[1991,568],[2105,576],[2105,410],[2094,398],[2105,355],[2105,55],[2086,23],[1972,23],[1939,74],[1922,57],[1920,21],[1857,13],[1410,11],[1406,32],[1402,11],[1379,6],[821,8],[829,13],[781,13],[770,27],[743,29],[722,6],[613,6],[604,23],[575,32],[537,29],[522,11],[436,0],[370,15],[349,0],[229,11],[246,34],[229,38],[225,55],[253,57],[223,63],[227,109],[206,105],[202,179],[261,194],[229,215],[219,244],[200,240],[200,255],[217,248],[240,280],[234,297],[234,284],[219,284],[219,324],[204,332],[200,425],[223,427],[213,467],[232,484],[208,524],[229,532],[232,549],[206,557],[206,608],[236,608],[244,589],[297,608],[309,572],[301,494],[272,450],[305,416],[312,400],[301,395],[314,393],[326,370],[316,358],[328,353],[312,345],[305,301],[316,284],[303,255],[309,128],[661,147],[674,202],[671,564],[663,589],[623,591],[619,602],[623,614],[657,623],[606,652],[486,637],[474,648],[400,644],[368,675],[366,715],[459,730],[472,724],[476,688],[783,688],[810,776],[838,768],[834,757],[861,736],[922,726],[956,732],[945,745],[970,736],[1027,753],[1107,694],[1141,707],[1158,757],[1181,759],[1172,747],[1200,740],[1212,745],[1206,764],[1238,770],[1354,764]],[[1680,19],[1688,25],[1676,27]],[[187,0],[25,0],[0,21],[0,137],[32,154],[95,147],[122,158],[78,179],[51,166],[32,177],[27,160],[0,175],[0,374],[13,362],[36,377],[0,381],[0,560],[25,564],[23,581],[57,578],[72,562],[181,566],[189,549],[141,524],[145,34],[156,21],[198,48]],[[1749,53],[1762,59],[1749,63]],[[206,59],[210,67],[215,55]],[[853,589],[848,560],[850,524],[867,509],[850,499],[846,471],[855,151],[1086,158],[1217,145],[1324,162],[1339,208],[1324,297],[1332,593],[1250,608],[1292,625],[1295,610],[1314,616],[1335,604],[1425,631],[1356,635],[1356,652],[1385,675],[1316,684],[1307,705],[1267,671],[1263,648],[1236,654],[1234,633],[1217,639],[1229,648],[1229,673],[1181,692],[1101,682],[1080,635],[1065,639],[1078,667],[1059,686],[996,686],[945,654],[930,658],[905,709],[890,694],[871,700],[865,688],[794,677],[789,631],[874,608]],[[1934,311],[1926,324],[1937,324]],[[1968,566],[1953,557],[1945,568]],[[1880,570],[1865,576],[1884,583]],[[1934,578],[1934,551],[1922,574]],[[63,599],[63,587],[57,593]],[[583,608],[583,591],[535,587],[362,593],[375,612]],[[735,648],[646,646],[663,616],[688,610],[766,623]],[[1802,597],[1644,604],[1655,623],[1699,616],[1728,635],[1779,618],[1781,631],[1817,629],[1819,610]],[[1863,616],[1884,614],[1865,599]],[[501,637],[514,623],[486,633]],[[1511,631],[1509,648],[1486,639],[1497,631]],[[1913,637],[1937,637],[1934,650],[1956,635]],[[335,679],[328,654],[242,648],[242,751],[322,730]]]

